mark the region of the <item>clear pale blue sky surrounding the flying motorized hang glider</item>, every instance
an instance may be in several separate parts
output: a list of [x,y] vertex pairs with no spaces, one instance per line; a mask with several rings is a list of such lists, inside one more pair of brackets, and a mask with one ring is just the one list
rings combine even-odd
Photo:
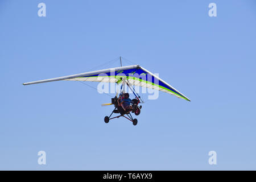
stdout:
[[[211,2],[217,17],[208,15]],[[0,169],[255,170],[255,9],[254,0],[1,0]],[[143,105],[137,126],[106,124],[113,106],[101,104],[110,97],[89,86],[22,85],[118,56],[191,102],[163,93]]]

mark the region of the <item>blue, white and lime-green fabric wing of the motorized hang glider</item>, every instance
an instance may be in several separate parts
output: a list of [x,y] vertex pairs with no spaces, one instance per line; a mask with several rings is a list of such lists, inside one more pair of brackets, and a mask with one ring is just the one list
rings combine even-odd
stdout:
[[110,69],[102,69],[99,71],[80,73],[64,77],[51,78],[47,80],[39,80],[26,82],[23,85],[39,84],[43,82],[72,80],[72,81],[96,81],[96,82],[121,82],[123,78],[129,81],[131,85],[143,86],[146,88],[157,89],[166,93],[170,93],[176,97],[190,101],[184,94],[177,91],[167,82],[158,76],[147,71],[139,65],[130,65],[126,67],[117,67]]

